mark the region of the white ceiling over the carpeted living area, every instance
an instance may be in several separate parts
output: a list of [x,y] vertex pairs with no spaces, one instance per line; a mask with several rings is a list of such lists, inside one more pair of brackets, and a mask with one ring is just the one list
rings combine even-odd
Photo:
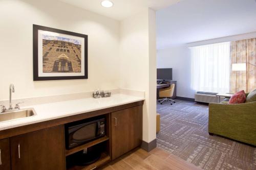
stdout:
[[157,48],[256,31],[255,0],[186,0],[156,12]]

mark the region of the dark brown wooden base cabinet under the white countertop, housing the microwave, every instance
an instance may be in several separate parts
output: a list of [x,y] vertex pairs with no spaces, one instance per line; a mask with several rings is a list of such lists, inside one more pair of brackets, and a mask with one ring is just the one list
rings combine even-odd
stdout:
[[[2,170],[66,169],[66,156],[102,143],[98,161],[68,169],[92,169],[139,147],[142,139],[143,101],[81,113],[0,131]],[[65,148],[65,124],[105,115],[105,136],[77,148]],[[67,159],[68,160],[68,159]]]

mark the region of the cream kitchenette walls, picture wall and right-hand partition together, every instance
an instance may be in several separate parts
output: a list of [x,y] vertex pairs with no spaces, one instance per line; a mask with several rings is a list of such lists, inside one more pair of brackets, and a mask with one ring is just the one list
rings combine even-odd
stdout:
[[[155,11],[119,22],[57,1],[1,0],[0,14],[0,101],[8,99],[11,83],[14,99],[97,88],[142,90],[143,140],[156,138]],[[89,35],[89,79],[34,82],[33,24]]]

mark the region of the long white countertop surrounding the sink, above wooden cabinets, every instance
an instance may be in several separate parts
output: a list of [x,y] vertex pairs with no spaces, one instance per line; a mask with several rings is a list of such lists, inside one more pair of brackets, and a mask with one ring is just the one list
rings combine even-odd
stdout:
[[138,96],[114,94],[110,98],[85,98],[22,107],[21,109],[34,108],[36,115],[0,123],[0,131],[143,100]]

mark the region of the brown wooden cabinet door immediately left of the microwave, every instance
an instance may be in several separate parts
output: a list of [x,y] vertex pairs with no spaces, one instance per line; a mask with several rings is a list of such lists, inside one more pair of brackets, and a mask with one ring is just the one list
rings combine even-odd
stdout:
[[10,143],[12,170],[66,169],[63,126],[14,136]]

